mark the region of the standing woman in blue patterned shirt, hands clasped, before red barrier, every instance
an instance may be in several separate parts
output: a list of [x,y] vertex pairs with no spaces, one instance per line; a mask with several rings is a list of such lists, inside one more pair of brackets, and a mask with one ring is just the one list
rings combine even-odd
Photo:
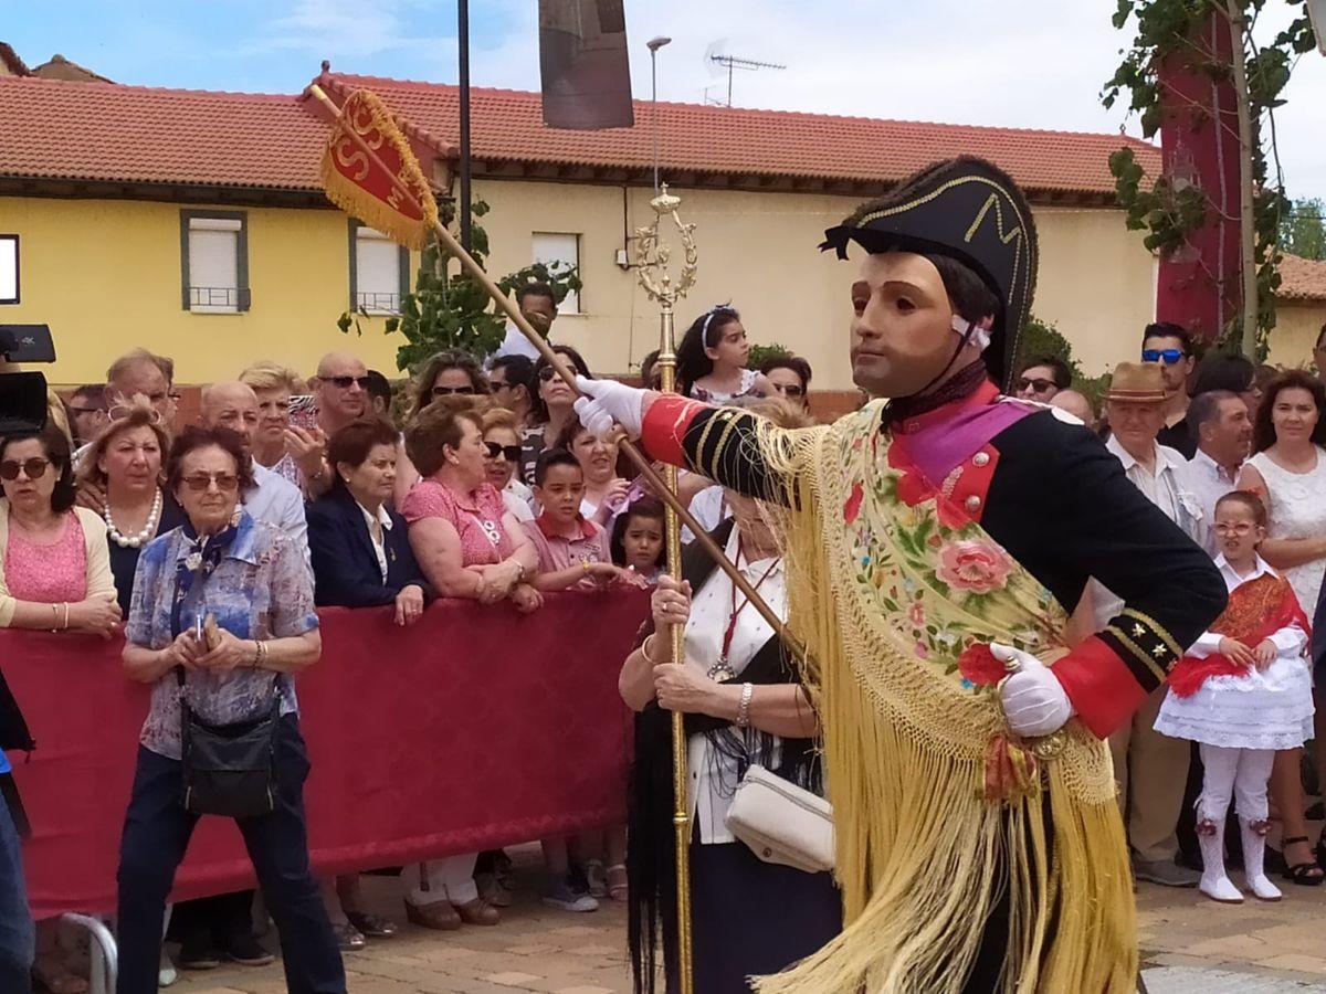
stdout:
[[322,653],[304,555],[240,504],[253,485],[243,439],[187,428],[166,464],[187,521],[138,561],[125,627],[125,671],[152,685],[119,847],[119,994],[154,990],[162,918],[198,815],[182,803],[182,702],[212,726],[249,722],[276,706],[271,812],[236,819],[281,938],[297,994],[345,994],[335,936],[309,869],[294,675]]

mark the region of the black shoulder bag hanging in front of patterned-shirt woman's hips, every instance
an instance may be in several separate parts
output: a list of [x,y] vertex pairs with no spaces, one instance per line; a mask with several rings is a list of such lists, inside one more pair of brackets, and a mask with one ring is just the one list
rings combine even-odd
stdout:
[[180,761],[184,767],[184,807],[195,815],[257,818],[276,810],[276,732],[281,694],[272,680],[267,710],[228,725],[203,721],[184,700],[184,668],[179,681]]

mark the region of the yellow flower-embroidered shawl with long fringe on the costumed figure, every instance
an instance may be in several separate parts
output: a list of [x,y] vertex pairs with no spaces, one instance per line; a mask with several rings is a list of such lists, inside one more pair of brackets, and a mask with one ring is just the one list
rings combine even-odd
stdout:
[[[794,506],[777,513],[789,620],[813,660],[845,904],[841,936],[757,990],[959,994],[1005,891],[1001,991],[1134,990],[1134,899],[1109,750],[1073,722],[1037,750],[1041,790],[987,802],[984,757],[1002,714],[989,688],[957,673],[961,644],[944,643],[971,631],[1054,657],[1062,612],[1010,558],[1002,592],[936,584],[919,563],[934,563],[941,541],[992,539],[967,522],[914,541],[931,534],[936,502],[898,500],[878,425],[873,404],[829,428],[757,429],[760,456],[792,481]],[[922,652],[918,632],[934,649]]]

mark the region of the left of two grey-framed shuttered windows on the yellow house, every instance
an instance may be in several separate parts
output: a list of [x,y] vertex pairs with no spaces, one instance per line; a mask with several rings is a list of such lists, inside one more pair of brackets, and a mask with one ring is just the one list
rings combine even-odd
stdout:
[[184,310],[237,314],[249,309],[248,231],[241,211],[182,211]]

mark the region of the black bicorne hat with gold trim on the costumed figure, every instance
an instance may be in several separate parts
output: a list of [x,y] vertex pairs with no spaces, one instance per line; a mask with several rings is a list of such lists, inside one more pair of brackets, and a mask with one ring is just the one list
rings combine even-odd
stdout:
[[912,174],[825,232],[822,249],[847,257],[855,241],[870,253],[948,256],[972,269],[1002,302],[985,366],[1006,387],[1017,339],[1036,293],[1036,221],[1022,191],[997,166],[969,155]]

